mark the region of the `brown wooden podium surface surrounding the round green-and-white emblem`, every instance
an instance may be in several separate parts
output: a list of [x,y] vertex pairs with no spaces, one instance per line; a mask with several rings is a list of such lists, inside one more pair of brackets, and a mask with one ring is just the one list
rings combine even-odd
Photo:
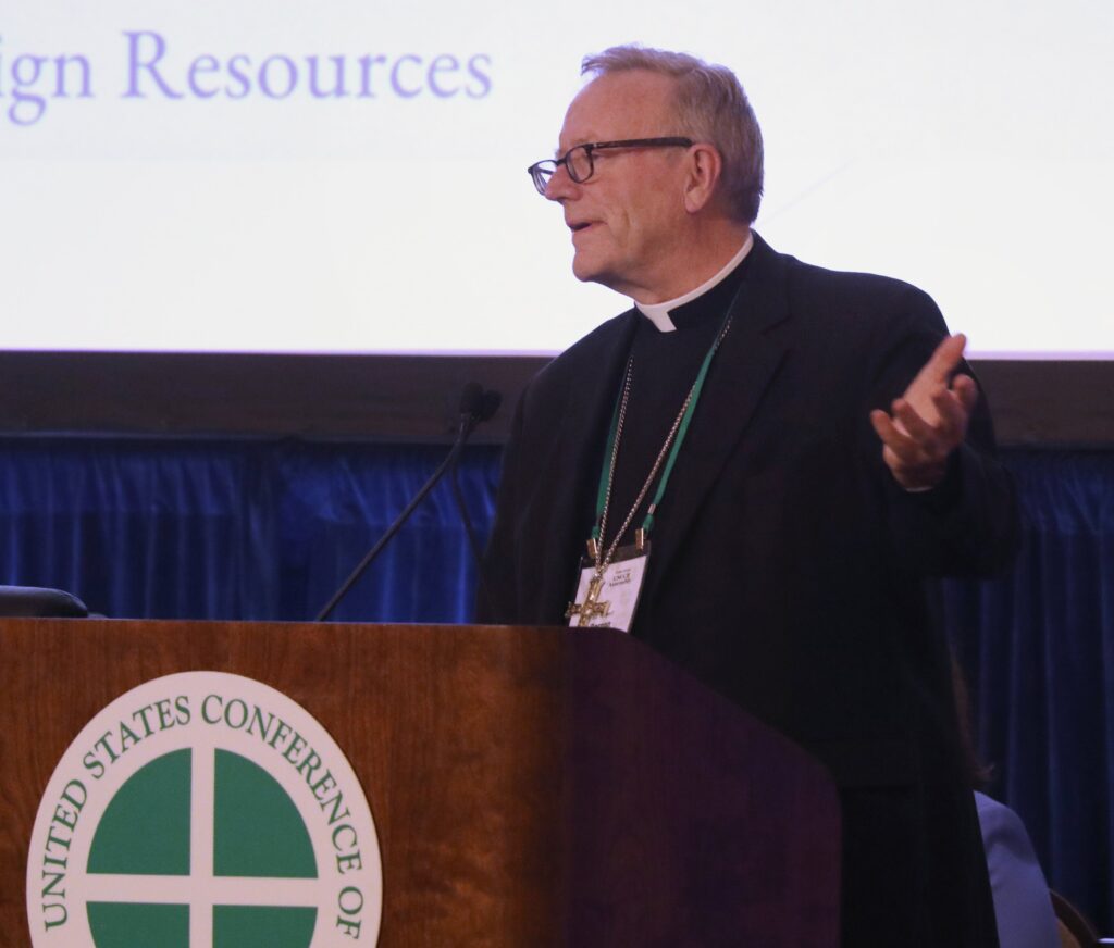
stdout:
[[[789,741],[610,630],[0,621],[0,932],[56,763],[182,671],[302,704],[360,778],[390,946],[836,946],[839,806]],[[10,940],[9,940],[10,939]]]

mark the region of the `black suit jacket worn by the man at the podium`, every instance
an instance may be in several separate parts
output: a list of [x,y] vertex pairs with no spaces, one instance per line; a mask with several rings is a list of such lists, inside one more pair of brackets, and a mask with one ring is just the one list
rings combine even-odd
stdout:
[[[936,305],[756,236],[752,255],[656,516],[632,634],[829,767],[847,945],[993,945],[935,584],[1015,551],[989,416],[980,403],[941,485],[901,490],[869,413],[947,333]],[[564,624],[639,318],[605,323],[526,389],[481,619]]]

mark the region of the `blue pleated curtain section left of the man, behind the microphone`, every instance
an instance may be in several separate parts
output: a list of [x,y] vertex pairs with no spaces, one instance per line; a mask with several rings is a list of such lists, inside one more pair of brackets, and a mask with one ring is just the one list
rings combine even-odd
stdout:
[[[486,537],[498,448],[460,486]],[[312,619],[446,454],[426,446],[0,441],[0,582],[113,618]],[[448,482],[334,613],[463,622],[475,559]]]

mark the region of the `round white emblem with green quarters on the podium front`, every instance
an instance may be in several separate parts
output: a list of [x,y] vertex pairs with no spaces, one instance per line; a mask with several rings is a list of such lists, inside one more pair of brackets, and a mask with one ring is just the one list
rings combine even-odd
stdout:
[[27,909],[36,948],[373,946],[375,826],[299,704],[237,675],[173,674],[66,751],[35,820]]

